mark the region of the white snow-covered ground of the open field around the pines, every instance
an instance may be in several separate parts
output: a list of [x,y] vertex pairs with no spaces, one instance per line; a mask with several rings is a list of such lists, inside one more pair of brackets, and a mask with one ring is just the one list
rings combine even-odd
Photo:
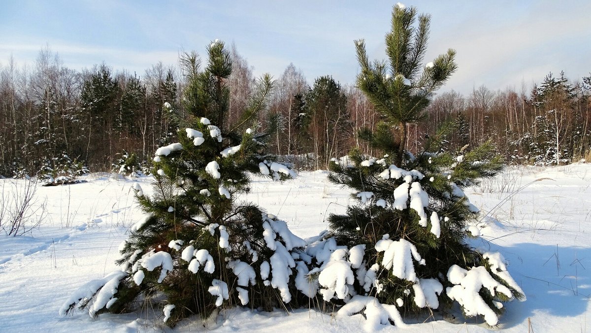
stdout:
[[[348,190],[326,180],[326,172],[305,172],[295,180],[274,183],[255,179],[245,199],[258,203],[288,222],[300,237],[327,227],[326,216],[344,212]],[[1,332],[358,332],[360,315],[335,318],[330,312],[252,312],[229,309],[215,320],[181,322],[177,328],[154,322],[161,309],[126,315],[86,313],[59,316],[73,290],[117,269],[118,246],[128,228],[141,218],[134,201],[134,182],[149,192],[150,177],[113,179],[93,174],[87,183],[37,187],[35,205],[46,203],[42,224],[25,235],[0,235]],[[526,186],[527,185],[527,186]],[[1,179],[6,198],[25,186],[24,180]],[[500,331],[591,331],[591,164],[547,169],[519,167],[466,190],[482,209],[479,224],[486,241],[475,247],[501,251],[527,301],[506,303]],[[589,315],[589,323],[587,323]],[[139,318],[138,318],[139,317]],[[453,316],[405,318],[415,323],[405,332],[485,332],[482,319],[465,322]],[[385,329],[384,331],[386,331]]]

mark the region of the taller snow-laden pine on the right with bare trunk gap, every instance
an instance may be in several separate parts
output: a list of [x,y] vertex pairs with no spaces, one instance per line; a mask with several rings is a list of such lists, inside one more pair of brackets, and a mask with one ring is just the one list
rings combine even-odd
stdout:
[[[441,150],[454,128],[447,124],[417,156],[405,150],[407,125],[426,117],[434,92],[456,70],[453,50],[423,64],[429,22],[429,15],[397,4],[385,38],[388,63],[370,62],[363,40],[356,41],[357,85],[382,116],[374,131],[359,135],[384,157],[353,150],[331,164],[329,179],[355,190],[358,203],[330,216],[332,232],[307,251],[330,248],[330,259],[316,256],[322,266],[312,270],[320,272],[320,293],[346,303],[338,315],[364,313],[370,330],[389,319],[402,325],[400,313],[447,311],[453,300],[465,315],[496,325],[501,302],[524,298],[501,254],[476,251],[466,241],[479,235],[479,214],[462,189],[502,169],[493,146]],[[331,239],[335,244],[321,244]]]

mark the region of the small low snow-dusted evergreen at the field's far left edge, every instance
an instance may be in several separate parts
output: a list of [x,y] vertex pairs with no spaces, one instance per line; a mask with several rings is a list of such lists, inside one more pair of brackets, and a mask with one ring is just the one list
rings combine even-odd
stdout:
[[43,186],[73,184],[83,182],[77,177],[89,172],[84,161],[72,160],[63,153],[59,157],[46,159],[37,173],[37,179]]

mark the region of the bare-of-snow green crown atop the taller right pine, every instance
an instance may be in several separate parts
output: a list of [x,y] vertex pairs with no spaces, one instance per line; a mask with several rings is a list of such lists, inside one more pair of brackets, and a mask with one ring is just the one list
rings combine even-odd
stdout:
[[[371,63],[365,41],[355,41],[357,59],[361,66],[357,85],[374,104],[384,121],[382,130],[371,137],[372,146],[381,148],[382,151],[392,151],[395,148],[397,164],[401,163],[404,155],[406,125],[427,117],[425,110],[435,91],[457,69],[454,62],[456,52],[452,49],[423,66],[430,20],[430,15],[420,14],[415,26],[417,11],[414,7],[394,7],[392,30],[385,38],[389,63]],[[395,129],[398,133],[395,142],[392,142],[392,131]]]

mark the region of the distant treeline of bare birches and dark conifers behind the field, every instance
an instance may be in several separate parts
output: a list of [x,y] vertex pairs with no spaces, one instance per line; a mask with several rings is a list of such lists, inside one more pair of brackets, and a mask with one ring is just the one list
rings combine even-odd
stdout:
[[[236,47],[229,57],[233,121],[258,81]],[[78,71],[63,66],[48,48],[31,67],[12,58],[0,63],[0,175],[35,176],[57,167],[64,156],[93,172],[112,170],[125,153],[148,166],[158,147],[176,140],[177,120],[171,115],[183,114],[188,74],[178,68],[157,63],[141,76],[113,72],[108,64]],[[591,74],[570,80],[549,73],[518,91],[480,86],[463,95],[451,90],[436,96],[427,110],[429,121],[409,125],[407,148],[420,150],[426,135],[454,121],[448,141],[455,149],[492,140],[507,163],[571,163],[591,158],[590,108]],[[299,169],[326,169],[330,159],[355,146],[372,151],[356,134],[374,130],[380,120],[355,86],[340,85],[330,75],[309,85],[294,64],[275,78],[268,113],[261,117],[278,119],[272,151]]]

